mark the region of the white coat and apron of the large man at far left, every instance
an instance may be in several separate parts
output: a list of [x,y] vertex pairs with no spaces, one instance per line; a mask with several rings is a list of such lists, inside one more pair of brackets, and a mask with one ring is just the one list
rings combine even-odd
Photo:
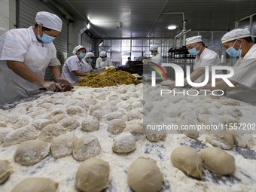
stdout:
[[7,60],[23,62],[41,78],[44,78],[48,66],[60,66],[54,44],[44,44],[42,47],[32,26],[6,32],[0,37],[0,104],[40,93],[40,87],[9,69]]

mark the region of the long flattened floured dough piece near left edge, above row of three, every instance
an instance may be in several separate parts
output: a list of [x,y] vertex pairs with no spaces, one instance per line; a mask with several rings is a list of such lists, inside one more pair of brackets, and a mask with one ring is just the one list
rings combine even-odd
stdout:
[[28,140],[36,139],[38,134],[39,132],[35,129],[35,126],[23,126],[20,129],[11,131],[5,136],[4,146],[20,144]]

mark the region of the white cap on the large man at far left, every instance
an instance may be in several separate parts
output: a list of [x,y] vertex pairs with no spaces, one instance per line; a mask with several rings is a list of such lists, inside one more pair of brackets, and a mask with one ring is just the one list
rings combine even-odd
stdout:
[[58,32],[61,32],[62,29],[62,20],[56,14],[50,14],[49,12],[38,12],[35,16],[35,22]]

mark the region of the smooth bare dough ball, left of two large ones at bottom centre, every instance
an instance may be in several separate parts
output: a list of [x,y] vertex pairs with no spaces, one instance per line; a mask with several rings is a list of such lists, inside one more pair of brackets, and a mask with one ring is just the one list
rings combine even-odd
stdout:
[[108,162],[90,158],[78,167],[75,175],[75,185],[84,192],[100,192],[108,187],[108,175]]

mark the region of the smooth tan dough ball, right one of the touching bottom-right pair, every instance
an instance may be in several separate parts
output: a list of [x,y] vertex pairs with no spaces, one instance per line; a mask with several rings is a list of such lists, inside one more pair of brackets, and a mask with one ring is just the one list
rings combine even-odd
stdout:
[[221,148],[204,148],[200,151],[203,166],[217,175],[232,174],[235,169],[235,158]]

